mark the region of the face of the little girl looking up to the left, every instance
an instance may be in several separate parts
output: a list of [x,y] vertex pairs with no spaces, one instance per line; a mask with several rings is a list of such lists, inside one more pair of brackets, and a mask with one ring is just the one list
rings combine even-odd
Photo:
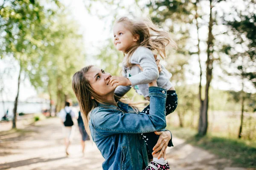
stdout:
[[116,23],[113,33],[114,44],[118,51],[127,53],[127,49],[137,43],[138,37],[132,35],[123,23]]

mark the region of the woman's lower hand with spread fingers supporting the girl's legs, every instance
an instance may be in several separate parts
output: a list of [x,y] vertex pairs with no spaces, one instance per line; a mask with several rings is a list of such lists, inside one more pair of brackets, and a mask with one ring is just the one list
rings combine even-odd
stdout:
[[170,131],[166,130],[166,131],[160,131],[160,132],[154,132],[156,135],[160,135],[157,141],[157,144],[154,146],[153,148],[153,152],[152,155],[154,155],[155,153],[157,153],[158,151],[160,151],[159,155],[158,155],[158,159],[163,157],[166,159],[166,149],[167,149],[167,145],[169,143],[169,141],[171,140],[172,136]]

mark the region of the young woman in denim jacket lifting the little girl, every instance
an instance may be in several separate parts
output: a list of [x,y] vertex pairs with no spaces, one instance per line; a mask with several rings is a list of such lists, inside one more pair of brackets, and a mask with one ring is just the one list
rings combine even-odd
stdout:
[[[110,78],[109,73],[95,66],[84,67],[73,75],[72,86],[85,128],[105,158],[104,170],[142,170],[148,164],[148,155],[141,133],[162,130],[158,132],[160,137],[153,154],[163,155],[171,140],[171,133],[163,130],[166,127],[167,91],[157,87],[156,81],[148,84],[148,115],[116,101]],[[155,170],[161,168],[157,164],[150,167]],[[170,169],[169,165],[166,167]]]

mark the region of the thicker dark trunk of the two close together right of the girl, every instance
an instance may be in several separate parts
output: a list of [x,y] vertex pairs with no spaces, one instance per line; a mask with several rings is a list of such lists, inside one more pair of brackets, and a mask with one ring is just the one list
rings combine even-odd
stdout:
[[212,81],[212,63],[213,63],[213,35],[212,35],[212,0],[210,1],[210,18],[209,18],[209,33],[207,40],[207,61],[206,61],[206,85],[205,85],[205,98],[200,103],[200,115],[198,122],[198,135],[204,136],[208,128],[208,104],[209,104],[209,87]]

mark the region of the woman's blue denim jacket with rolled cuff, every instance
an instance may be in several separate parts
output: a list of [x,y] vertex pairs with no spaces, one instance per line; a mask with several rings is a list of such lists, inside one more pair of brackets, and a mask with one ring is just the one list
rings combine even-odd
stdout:
[[128,104],[98,104],[91,111],[89,127],[93,141],[105,161],[103,170],[142,170],[148,164],[145,142],[141,133],[166,127],[166,89],[149,87],[149,115],[134,111]]

